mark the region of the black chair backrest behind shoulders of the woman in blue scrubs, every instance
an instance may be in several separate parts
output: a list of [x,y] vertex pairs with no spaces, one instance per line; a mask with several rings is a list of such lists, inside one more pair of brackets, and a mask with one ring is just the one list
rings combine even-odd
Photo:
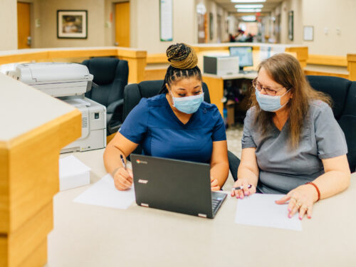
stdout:
[[[146,80],[141,83],[132,83],[125,86],[124,108],[122,111],[122,121],[129,115],[130,111],[140,103],[141,98],[152,98],[159,93],[163,85],[163,80]],[[204,101],[210,103],[208,86],[203,82]]]

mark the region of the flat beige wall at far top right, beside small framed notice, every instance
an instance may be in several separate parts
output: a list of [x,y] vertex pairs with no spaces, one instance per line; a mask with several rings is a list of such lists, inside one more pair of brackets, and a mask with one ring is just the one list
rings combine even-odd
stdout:
[[314,27],[314,41],[303,41],[309,53],[335,56],[356,53],[355,16],[356,0],[303,0],[303,26]]

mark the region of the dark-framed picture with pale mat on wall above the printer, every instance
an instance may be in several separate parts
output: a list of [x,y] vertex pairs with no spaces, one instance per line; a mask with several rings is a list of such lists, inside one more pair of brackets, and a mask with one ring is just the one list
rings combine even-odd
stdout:
[[57,10],[57,38],[88,38],[88,11]]

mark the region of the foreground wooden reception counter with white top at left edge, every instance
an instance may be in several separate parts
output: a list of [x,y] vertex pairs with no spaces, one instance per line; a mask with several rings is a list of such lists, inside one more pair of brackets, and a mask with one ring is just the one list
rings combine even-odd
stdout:
[[79,110],[0,73],[0,266],[43,266],[60,150],[81,135]]

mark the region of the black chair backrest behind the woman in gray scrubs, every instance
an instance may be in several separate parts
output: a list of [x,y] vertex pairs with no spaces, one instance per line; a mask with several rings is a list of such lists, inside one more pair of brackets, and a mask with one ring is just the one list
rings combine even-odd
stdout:
[[[351,172],[356,171],[356,82],[345,78],[308,75],[311,87],[333,99],[335,119],[345,133],[347,160]],[[335,144],[337,145],[337,144]]]

